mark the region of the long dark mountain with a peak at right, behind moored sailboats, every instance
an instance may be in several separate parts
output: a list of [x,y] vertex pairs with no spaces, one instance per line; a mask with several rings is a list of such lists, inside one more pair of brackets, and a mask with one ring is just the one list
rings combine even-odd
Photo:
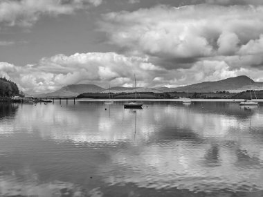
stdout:
[[[250,85],[251,84],[251,85]],[[166,89],[167,92],[186,92],[191,93],[209,93],[216,91],[246,91],[252,87],[263,89],[263,83],[254,82],[249,77],[242,75],[238,77],[230,77],[216,82],[202,82],[199,84],[192,84],[189,86],[181,86],[177,88]]]

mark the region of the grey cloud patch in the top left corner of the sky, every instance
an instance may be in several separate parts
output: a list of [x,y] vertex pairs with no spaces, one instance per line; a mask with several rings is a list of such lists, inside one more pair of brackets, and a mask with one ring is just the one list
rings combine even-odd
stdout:
[[68,15],[101,3],[102,0],[3,0],[0,2],[0,23],[31,26],[41,15]]

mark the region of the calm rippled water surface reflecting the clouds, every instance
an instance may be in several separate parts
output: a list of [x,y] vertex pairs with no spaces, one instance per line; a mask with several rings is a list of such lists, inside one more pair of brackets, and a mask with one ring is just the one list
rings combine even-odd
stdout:
[[0,196],[263,196],[263,104],[0,104]]

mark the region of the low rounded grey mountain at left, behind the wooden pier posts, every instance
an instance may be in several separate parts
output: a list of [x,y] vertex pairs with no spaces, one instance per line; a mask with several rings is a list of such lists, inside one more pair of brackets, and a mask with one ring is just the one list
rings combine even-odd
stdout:
[[52,93],[35,95],[35,97],[75,97],[82,93],[100,93],[101,91],[105,91],[105,88],[93,84],[73,84]]

